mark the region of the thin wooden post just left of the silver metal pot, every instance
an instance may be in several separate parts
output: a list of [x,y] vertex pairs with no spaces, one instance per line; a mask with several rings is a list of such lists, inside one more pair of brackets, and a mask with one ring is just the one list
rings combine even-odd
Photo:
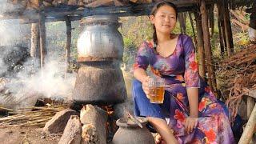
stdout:
[[71,47],[71,21],[66,18],[66,72],[70,66],[70,47]]

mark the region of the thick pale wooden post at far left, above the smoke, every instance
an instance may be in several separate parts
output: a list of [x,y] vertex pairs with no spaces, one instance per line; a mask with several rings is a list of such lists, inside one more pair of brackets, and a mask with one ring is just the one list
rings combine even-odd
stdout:
[[40,58],[40,50],[39,50],[39,28],[38,23],[31,24],[31,48],[30,48],[30,56],[32,58]]

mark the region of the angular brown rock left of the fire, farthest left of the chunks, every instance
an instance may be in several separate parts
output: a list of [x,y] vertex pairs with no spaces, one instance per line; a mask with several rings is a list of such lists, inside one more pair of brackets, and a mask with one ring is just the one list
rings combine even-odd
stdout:
[[49,134],[62,132],[71,115],[78,115],[78,112],[71,109],[58,112],[49,122],[46,122],[46,126],[43,130]]

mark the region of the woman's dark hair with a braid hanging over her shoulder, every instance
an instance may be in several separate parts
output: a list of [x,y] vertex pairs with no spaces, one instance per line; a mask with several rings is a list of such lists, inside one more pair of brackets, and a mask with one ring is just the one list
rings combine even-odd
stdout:
[[[157,2],[154,7],[152,8],[151,10],[151,13],[150,15],[154,15],[157,13],[158,9],[162,6],[170,6],[172,8],[174,8],[175,10],[175,13],[176,13],[176,18],[178,16],[178,12],[177,12],[177,6],[175,6],[172,2],[166,2],[166,1],[160,1],[160,2]],[[154,30],[154,33],[153,33],[153,42],[154,42],[154,49],[156,50],[156,46],[158,45],[158,37],[157,37],[157,31],[155,30],[155,26],[153,24],[153,30]]]

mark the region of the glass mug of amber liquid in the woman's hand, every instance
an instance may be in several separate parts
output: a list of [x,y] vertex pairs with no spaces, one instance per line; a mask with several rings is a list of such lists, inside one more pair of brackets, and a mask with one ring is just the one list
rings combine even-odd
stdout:
[[162,103],[165,94],[165,80],[163,78],[150,78],[150,102],[151,103]]

